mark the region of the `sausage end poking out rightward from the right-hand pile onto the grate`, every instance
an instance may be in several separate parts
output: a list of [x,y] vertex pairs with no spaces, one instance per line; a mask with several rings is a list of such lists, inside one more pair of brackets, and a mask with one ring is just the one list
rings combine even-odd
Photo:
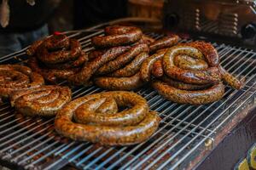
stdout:
[[222,75],[224,82],[227,82],[232,88],[236,88],[238,90],[241,89],[242,84],[236,77],[230,75],[230,73],[224,70],[222,66],[219,66],[219,71]]

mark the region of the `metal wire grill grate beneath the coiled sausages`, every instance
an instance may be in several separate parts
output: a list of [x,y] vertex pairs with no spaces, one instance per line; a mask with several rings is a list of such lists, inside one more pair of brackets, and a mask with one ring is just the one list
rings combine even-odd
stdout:
[[[96,28],[97,29],[97,28]],[[78,38],[84,51],[91,50],[90,37],[102,30],[69,31]],[[163,35],[148,33],[159,38]],[[192,40],[183,40],[189,42]],[[218,143],[218,133],[229,129],[228,122],[255,105],[256,53],[225,44],[218,49],[221,65],[240,77],[240,91],[227,87],[224,98],[210,105],[178,105],[163,99],[151,88],[136,92],[148,100],[150,109],[162,118],[160,127],[147,142],[129,147],[102,147],[64,139],[55,133],[54,118],[22,118],[8,103],[0,105],[0,159],[5,165],[25,169],[58,169],[68,163],[81,169],[183,168]],[[4,56],[0,63],[26,63],[24,50]],[[61,82],[60,84],[67,84]],[[73,88],[73,98],[103,91],[94,86]],[[223,128],[224,127],[224,128]]]

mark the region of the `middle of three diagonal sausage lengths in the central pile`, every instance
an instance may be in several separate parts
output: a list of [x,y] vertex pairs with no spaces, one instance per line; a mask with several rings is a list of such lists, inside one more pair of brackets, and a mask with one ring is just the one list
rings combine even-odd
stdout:
[[109,61],[107,64],[103,65],[96,73],[97,75],[106,75],[113,71],[117,71],[119,68],[125,66],[125,64],[131,62],[131,60],[134,59],[137,54],[143,52],[148,52],[148,45],[146,43],[137,44],[125,54],[121,54],[116,59],[113,59],[112,61]]

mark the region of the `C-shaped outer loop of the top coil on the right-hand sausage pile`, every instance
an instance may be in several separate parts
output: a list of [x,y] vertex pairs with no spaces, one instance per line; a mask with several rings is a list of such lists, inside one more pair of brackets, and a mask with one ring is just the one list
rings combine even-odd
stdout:
[[220,73],[217,66],[210,66],[203,71],[188,71],[174,65],[173,59],[178,54],[186,54],[197,59],[204,59],[204,54],[197,48],[186,45],[177,45],[170,48],[162,59],[163,69],[168,77],[180,82],[192,84],[208,84],[220,82]]

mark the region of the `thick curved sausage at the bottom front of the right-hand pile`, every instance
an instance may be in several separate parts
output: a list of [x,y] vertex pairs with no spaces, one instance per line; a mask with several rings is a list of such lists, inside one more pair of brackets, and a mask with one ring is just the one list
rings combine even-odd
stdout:
[[196,91],[181,90],[160,81],[153,82],[153,87],[166,99],[180,104],[203,105],[218,101],[224,95],[222,82],[213,85],[211,88]]

